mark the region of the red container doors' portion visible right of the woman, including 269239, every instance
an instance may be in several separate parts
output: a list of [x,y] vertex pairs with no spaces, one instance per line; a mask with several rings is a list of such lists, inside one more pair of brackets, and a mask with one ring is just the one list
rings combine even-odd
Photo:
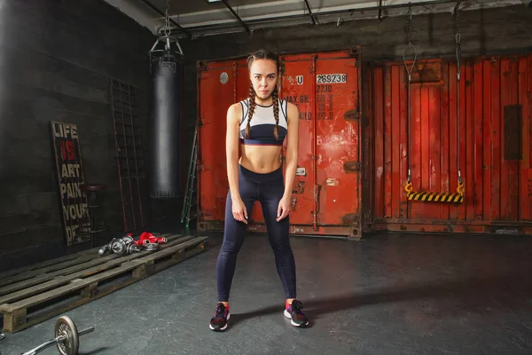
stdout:
[[285,56],[281,96],[298,106],[292,233],[360,233],[357,51]]

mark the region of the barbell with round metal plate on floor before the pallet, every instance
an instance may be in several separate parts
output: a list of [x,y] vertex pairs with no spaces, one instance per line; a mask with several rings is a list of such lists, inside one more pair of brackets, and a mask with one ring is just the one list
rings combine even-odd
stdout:
[[57,344],[61,355],[77,355],[80,348],[80,336],[94,331],[94,327],[88,327],[78,332],[74,320],[67,316],[62,316],[56,320],[54,327],[55,338],[37,346],[35,349],[22,353],[22,355],[35,355]]

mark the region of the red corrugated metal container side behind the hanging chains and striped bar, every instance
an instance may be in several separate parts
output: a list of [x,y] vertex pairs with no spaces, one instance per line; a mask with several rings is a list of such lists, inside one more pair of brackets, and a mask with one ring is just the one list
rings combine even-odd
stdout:
[[[489,232],[493,231],[489,226],[497,222],[529,224],[532,56],[465,60],[459,88],[459,128],[456,63],[440,60],[437,66],[434,59],[427,62],[441,69],[432,70],[429,76],[440,73],[442,81],[411,85],[412,184],[419,192],[456,191],[459,129],[465,202],[407,201],[403,190],[408,153],[405,69],[402,62],[375,64],[364,83],[372,88],[372,101],[365,107],[372,114],[368,135],[373,140],[364,159],[373,159],[368,178],[374,181],[375,228],[388,225],[395,230],[397,225],[410,225],[407,229],[412,230],[412,225],[418,225],[420,230],[419,225],[434,221],[462,226],[474,222],[478,226],[475,231]],[[421,60],[417,67],[427,65]]]

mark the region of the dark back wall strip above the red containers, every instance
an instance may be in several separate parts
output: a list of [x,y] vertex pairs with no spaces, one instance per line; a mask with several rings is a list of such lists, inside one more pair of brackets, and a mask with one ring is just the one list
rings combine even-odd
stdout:
[[[464,3],[463,3],[464,4]],[[454,17],[449,12],[419,15],[412,18],[412,43],[418,58],[455,55]],[[532,8],[525,5],[460,12],[462,56],[519,53],[532,51]],[[188,149],[196,120],[196,61],[248,55],[259,48],[270,51],[327,51],[362,46],[364,61],[402,60],[407,43],[403,17],[381,20],[356,20],[321,25],[275,28],[221,36],[182,40],[185,54],[184,116],[189,136]]]

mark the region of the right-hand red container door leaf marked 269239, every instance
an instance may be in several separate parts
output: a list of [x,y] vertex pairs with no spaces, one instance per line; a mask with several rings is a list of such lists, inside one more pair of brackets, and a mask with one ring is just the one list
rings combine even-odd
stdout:
[[318,58],[318,223],[354,225],[359,206],[358,66],[353,58]]

